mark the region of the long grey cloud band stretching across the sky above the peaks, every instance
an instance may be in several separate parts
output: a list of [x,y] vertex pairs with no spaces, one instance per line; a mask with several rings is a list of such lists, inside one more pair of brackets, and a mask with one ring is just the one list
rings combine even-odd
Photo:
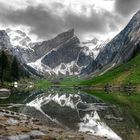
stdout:
[[[120,0],[118,0],[120,1]],[[116,8],[117,8],[116,3]],[[82,37],[88,33],[106,33],[118,29],[121,18],[104,9],[97,13],[94,6],[83,7],[83,13],[87,8],[91,9],[91,15],[76,14],[67,9],[63,16],[54,11],[61,10],[64,5],[53,3],[51,9],[46,6],[28,6],[26,9],[12,9],[0,4],[0,21],[4,25],[25,25],[30,28],[30,33],[38,38],[48,39],[70,28],[75,28],[76,34]]]

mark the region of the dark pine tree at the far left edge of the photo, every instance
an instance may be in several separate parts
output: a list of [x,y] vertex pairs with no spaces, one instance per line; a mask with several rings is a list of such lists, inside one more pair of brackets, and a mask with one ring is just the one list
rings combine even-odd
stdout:
[[8,57],[2,50],[0,54],[0,80],[2,85],[4,82],[4,72],[6,71],[7,67],[8,67]]

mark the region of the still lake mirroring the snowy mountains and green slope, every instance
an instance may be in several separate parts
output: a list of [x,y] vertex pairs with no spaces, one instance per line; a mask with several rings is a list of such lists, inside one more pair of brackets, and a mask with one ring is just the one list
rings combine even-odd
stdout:
[[[113,103],[113,98],[109,103],[102,98],[107,93],[98,92],[62,87],[24,93],[13,91],[9,98],[0,100],[0,108],[30,115],[44,125],[72,129],[112,140],[140,140],[140,119],[131,108]],[[112,94],[116,93],[107,96]]]

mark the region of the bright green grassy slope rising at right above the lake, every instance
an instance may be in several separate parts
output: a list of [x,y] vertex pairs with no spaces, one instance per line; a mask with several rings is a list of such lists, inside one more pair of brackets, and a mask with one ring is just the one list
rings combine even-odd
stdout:
[[126,84],[129,82],[140,84],[140,55],[101,76],[82,81],[80,85]]

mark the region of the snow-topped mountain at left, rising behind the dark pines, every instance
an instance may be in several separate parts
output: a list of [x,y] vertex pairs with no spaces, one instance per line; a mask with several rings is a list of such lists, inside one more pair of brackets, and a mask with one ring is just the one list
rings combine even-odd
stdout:
[[[20,44],[20,45],[14,46],[15,31],[12,31],[12,30],[9,31],[10,35],[8,35],[7,31],[9,30],[0,30],[0,54],[4,52],[4,54],[6,55],[8,59],[8,68],[7,68],[8,73],[5,73],[6,79],[8,79],[8,81],[11,79],[9,77],[10,76],[9,72],[10,72],[10,67],[12,65],[12,61],[14,60],[14,58],[17,59],[20,77],[26,77],[29,75],[40,76],[36,70],[29,68],[26,65],[26,61],[25,61],[27,59],[26,56],[28,56],[28,51],[30,51],[31,48],[23,49],[24,46],[22,45],[22,42],[20,39],[15,40],[15,42],[19,41],[19,43],[17,44]],[[13,38],[11,36],[13,36]],[[17,35],[15,36],[17,37]],[[13,42],[12,42],[12,39],[13,39]]]

